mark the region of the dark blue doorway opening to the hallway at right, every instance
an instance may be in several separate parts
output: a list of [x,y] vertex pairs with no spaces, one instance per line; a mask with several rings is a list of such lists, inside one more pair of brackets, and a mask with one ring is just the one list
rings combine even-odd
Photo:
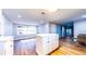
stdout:
[[73,40],[73,37],[74,37],[73,23],[63,24],[62,27],[61,27],[61,31],[62,31],[62,34],[61,34],[62,38]]

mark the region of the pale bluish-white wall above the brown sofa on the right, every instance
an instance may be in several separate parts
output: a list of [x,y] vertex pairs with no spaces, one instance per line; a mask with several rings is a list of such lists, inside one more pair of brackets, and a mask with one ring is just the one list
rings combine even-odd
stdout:
[[78,34],[86,34],[86,21],[79,21],[74,23],[74,37]]

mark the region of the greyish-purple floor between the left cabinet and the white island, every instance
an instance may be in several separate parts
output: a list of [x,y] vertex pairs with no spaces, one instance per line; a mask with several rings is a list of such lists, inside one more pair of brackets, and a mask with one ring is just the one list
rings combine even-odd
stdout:
[[36,55],[35,39],[14,41],[14,55]]

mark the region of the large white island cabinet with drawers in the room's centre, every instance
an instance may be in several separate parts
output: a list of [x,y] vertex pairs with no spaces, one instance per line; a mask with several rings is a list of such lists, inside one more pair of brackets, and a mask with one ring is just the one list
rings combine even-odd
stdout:
[[59,35],[39,34],[36,41],[36,52],[40,55],[48,54],[59,47]]

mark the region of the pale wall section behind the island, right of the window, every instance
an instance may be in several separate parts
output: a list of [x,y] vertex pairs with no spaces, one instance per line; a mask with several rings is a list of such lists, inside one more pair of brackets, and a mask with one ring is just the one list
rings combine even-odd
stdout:
[[56,34],[57,33],[57,24],[45,23],[38,26],[39,34]]

